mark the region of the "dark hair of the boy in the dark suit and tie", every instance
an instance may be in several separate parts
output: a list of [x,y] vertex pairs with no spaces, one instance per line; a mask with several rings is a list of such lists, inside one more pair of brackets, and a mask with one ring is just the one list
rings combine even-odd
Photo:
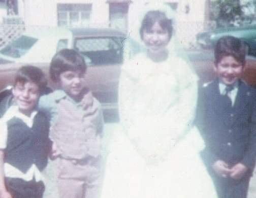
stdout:
[[232,56],[242,65],[245,64],[246,49],[243,41],[236,37],[225,36],[220,38],[214,49],[215,65],[225,56]]

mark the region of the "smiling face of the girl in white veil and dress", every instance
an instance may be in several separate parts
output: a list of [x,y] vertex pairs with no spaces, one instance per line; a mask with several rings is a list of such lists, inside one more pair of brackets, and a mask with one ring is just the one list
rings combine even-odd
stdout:
[[163,29],[158,22],[155,22],[151,28],[143,29],[142,40],[150,53],[161,54],[165,51],[170,38],[168,30]]

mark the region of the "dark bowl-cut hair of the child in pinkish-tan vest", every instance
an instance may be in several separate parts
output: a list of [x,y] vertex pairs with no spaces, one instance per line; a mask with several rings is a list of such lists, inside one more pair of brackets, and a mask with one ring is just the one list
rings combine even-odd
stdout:
[[57,52],[50,63],[50,78],[56,82],[59,75],[66,71],[86,72],[86,64],[83,56],[74,49],[62,49]]

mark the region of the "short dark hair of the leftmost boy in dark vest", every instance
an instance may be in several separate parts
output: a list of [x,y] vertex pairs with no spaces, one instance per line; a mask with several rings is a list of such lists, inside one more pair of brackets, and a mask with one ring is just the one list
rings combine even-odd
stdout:
[[24,65],[16,73],[14,86],[17,83],[33,82],[38,85],[40,93],[46,90],[47,80],[43,71],[33,65]]

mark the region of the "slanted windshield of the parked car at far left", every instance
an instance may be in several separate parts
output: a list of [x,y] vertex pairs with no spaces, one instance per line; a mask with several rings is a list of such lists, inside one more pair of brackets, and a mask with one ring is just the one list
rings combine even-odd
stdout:
[[36,38],[21,36],[2,50],[0,53],[13,58],[19,58],[27,53],[27,51],[38,41]]

